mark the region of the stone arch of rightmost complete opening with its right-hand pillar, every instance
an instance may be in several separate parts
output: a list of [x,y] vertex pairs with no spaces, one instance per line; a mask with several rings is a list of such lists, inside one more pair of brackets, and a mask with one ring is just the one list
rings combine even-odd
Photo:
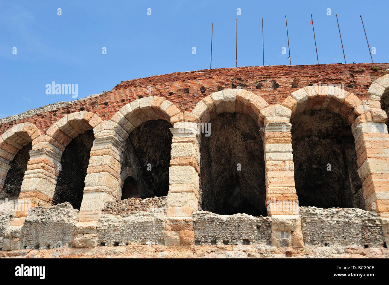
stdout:
[[[289,122],[295,115],[309,110],[321,110],[324,114],[327,111],[338,113],[343,120],[347,121],[354,137],[356,168],[362,181],[365,207],[385,215],[389,207],[387,200],[382,201],[386,196],[383,192],[375,191],[378,189],[374,187],[377,182],[374,184],[372,181],[375,175],[383,179],[387,176],[385,174],[388,169],[385,160],[387,154],[385,149],[382,150],[382,147],[386,148],[386,146],[381,143],[387,137],[387,127],[384,124],[387,117],[381,109],[377,108],[374,102],[376,98],[371,97],[371,99],[371,101],[361,101],[354,94],[338,87],[314,85],[293,92],[281,103],[281,106],[291,110],[289,120],[284,122]],[[377,177],[375,178],[377,180]]]

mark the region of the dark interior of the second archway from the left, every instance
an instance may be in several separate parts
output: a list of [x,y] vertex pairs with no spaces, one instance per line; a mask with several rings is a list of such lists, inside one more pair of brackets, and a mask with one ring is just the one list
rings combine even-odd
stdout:
[[88,130],[72,139],[63,151],[53,204],[69,202],[74,209],[80,209],[94,139],[93,131]]

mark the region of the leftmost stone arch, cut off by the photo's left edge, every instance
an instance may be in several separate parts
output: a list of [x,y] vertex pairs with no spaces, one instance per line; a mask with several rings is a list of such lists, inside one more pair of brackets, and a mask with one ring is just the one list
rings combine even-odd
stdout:
[[[29,122],[14,125],[2,134],[0,137],[0,193],[11,168],[10,163],[21,149],[25,149],[29,143],[39,136],[40,130]],[[22,163],[24,164],[24,162]],[[27,161],[25,164],[27,167]]]

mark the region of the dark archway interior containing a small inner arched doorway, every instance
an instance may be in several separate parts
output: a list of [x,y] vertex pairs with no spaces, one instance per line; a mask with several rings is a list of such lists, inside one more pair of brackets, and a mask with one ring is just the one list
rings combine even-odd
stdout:
[[139,185],[142,199],[168,194],[171,127],[165,120],[147,121],[133,130],[126,140],[122,171],[128,167],[135,172],[131,176]]

